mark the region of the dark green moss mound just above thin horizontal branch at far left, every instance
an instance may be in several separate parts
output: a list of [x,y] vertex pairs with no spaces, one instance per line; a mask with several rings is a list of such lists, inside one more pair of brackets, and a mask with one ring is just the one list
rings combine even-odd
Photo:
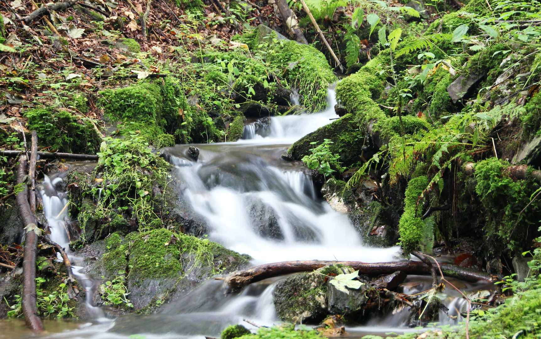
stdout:
[[28,128],[36,130],[39,145],[61,152],[95,154],[101,142],[92,121],[65,110],[31,109],[24,113]]

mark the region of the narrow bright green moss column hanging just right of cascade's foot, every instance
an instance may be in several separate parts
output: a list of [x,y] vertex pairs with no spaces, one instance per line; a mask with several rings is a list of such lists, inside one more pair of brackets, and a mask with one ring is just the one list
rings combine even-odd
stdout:
[[400,222],[398,224],[400,242],[402,243],[402,248],[406,254],[417,247],[423,234],[425,223],[421,219],[423,204],[419,202],[419,196],[426,189],[427,185],[427,177],[419,176],[410,180],[406,188],[404,213],[400,217]]

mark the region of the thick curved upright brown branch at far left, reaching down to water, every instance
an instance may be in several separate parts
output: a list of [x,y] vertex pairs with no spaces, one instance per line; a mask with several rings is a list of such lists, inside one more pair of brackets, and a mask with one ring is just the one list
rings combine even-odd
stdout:
[[19,214],[25,225],[25,244],[24,244],[24,259],[23,259],[23,294],[21,304],[23,308],[24,318],[28,327],[32,331],[39,332],[43,330],[43,324],[38,316],[37,311],[37,294],[36,294],[36,252],[37,252],[37,237],[36,230],[39,229],[36,225],[36,219],[30,210],[28,203],[28,186],[25,184],[27,170],[27,157],[22,155],[19,159],[17,169],[17,184],[22,184],[23,190],[17,194],[17,204],[19,205]]

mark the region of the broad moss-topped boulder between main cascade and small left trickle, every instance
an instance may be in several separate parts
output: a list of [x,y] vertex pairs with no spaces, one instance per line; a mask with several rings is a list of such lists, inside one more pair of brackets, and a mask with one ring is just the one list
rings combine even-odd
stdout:
[[[232,272],[248,264],[250,256],[222,245],[165,228],[131,232],[105,240],[107,252],[99,270],[105,278],[126,271],[130,300],[143,313],[173,294],[193,288],[214,274]],[[150,308],[149,308],[150,306]]]

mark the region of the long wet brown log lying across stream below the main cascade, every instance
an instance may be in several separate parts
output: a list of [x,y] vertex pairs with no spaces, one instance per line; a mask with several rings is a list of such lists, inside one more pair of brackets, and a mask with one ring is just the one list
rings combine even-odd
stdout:
[[[248,284],[258,282],[267,278],[277,277],[294,272],[313,271],[325,265],[342,264],[359,270],[360,275],[378,276],[391,274],[395,271],[403,271],[406,274],[427,275],[431,274],[431,269],[424,262],[420,261],[397,261],[364,263],[360,261],[283,261],[271,264],[259,265],[244,271],[235,272],[227,277],[217,277],[216,280],[225,281],[230,288],[236,290],[245,287]],[[491,276],[484,272],[478,272],[471,269],[458,267],[456,265],[440,265],[443,274],[448,277],[457,278],[467,282],[495,282],[498,277]]]

